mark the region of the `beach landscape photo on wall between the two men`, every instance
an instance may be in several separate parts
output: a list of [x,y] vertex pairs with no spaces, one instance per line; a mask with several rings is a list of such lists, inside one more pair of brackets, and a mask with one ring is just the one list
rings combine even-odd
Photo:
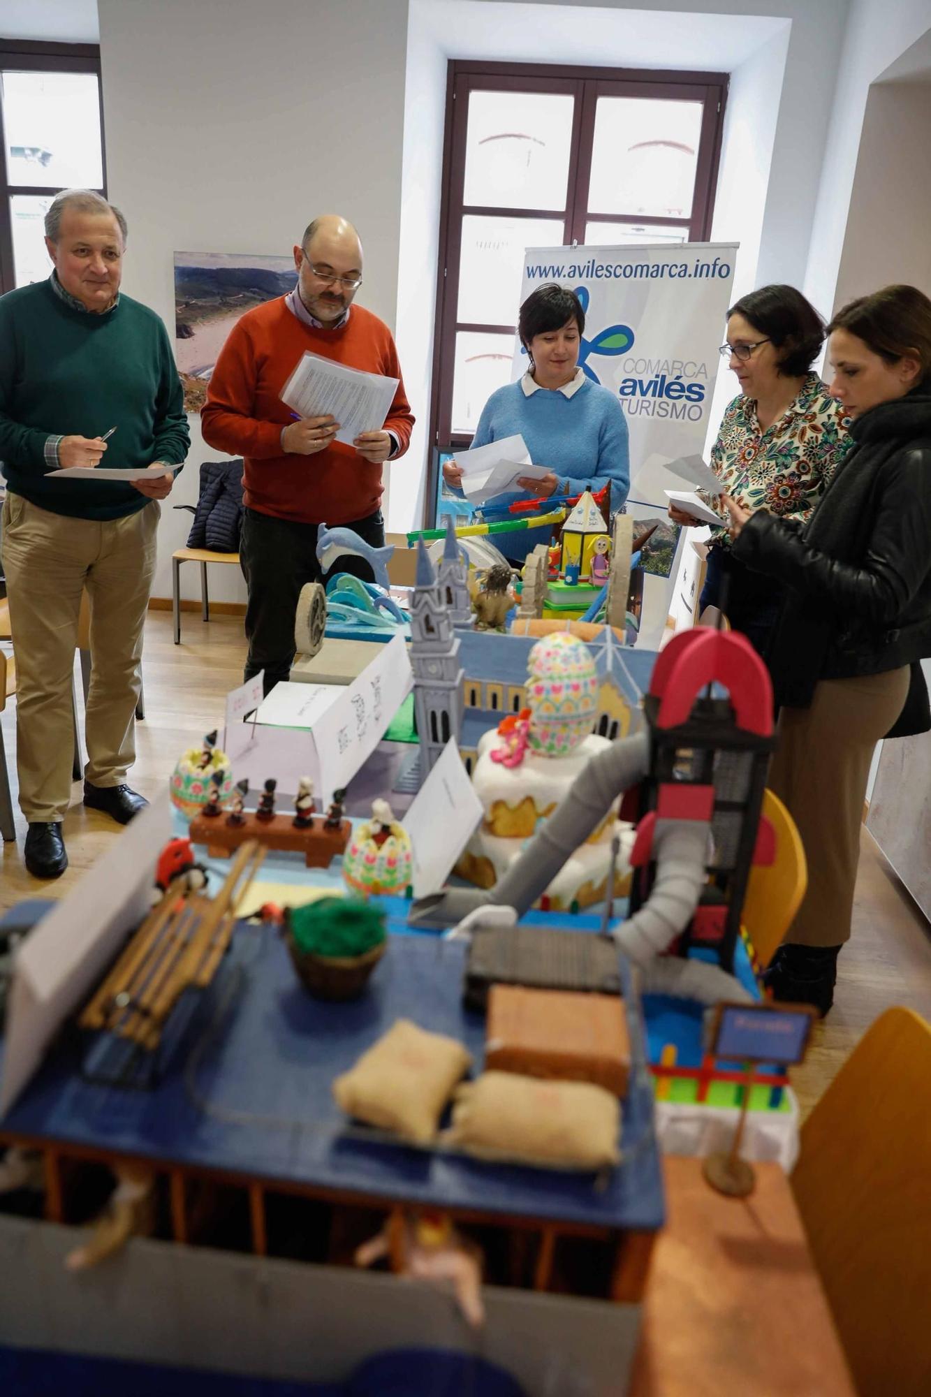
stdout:
[[294,257],[175,253],[175,353],[185,409],[200,412],[226,335],[239,317],[292,291]]

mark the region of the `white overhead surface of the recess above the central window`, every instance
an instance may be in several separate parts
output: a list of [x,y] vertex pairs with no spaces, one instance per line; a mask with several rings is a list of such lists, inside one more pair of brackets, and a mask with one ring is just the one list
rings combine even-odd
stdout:
[[[0,0],[0,4],[3,0]],[[614,6],[411,0],[411,15],[457,59],[730,73],[790,22]]]

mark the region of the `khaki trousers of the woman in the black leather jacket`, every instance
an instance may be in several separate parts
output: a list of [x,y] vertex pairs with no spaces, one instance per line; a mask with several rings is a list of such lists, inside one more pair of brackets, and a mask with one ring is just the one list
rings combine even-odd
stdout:
[[780,714],[769,787],[798,826],[808,861],[808,890],[788,943],[840,946],[850,939],[869,763],[907,693],[907,666],[822,679],[811,708]]

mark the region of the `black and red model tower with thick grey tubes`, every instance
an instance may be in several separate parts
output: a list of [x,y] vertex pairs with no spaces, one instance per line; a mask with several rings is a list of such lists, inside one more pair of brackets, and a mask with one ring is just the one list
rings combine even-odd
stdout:
[[[774,858],[760,814],[773,749],[769,673],[744,636],[684,631],[656,661],[644,717],[646,731],[593,754],[486,893],[447,888],[411,919],[453,925],[472,914],[481,923],[489,904],[523,916],[625,795],[622,813],[639,820],[635,877],[630,915],[611,930],[640,965],[644,992],[746,999],[731,974],[744,895],[751,866]],[[693,944],[717,964],[686,958]]]

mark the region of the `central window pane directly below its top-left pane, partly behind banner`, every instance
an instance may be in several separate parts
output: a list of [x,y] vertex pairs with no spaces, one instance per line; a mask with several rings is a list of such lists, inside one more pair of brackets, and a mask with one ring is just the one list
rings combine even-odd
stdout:
[[562,247],[561,218],[463,218],[457,320],[516,326],[527,247]]

